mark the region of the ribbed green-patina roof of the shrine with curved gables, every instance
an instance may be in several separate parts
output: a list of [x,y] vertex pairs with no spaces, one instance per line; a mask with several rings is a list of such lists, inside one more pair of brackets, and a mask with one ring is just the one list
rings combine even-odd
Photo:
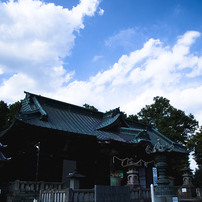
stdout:
[[[148,142],[174,145],[174,152],[187,153],[186,147],[163,136],[150,125],[125,119],[119,108],[106,113],[25,92],[16,121],[64,133],[94,136],[99,141],[129,144]],[[6,131],[5,131],[6,132]],[[5,132],[1,132],[0,136]]]

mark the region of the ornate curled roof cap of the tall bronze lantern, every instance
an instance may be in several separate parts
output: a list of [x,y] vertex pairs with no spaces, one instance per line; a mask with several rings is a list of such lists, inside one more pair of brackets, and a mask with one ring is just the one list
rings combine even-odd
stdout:
[[151,153],[157,153],[157,152],[160,152],[160,153],[171,152],[174,150],[173,143],[170,146],[168,146],[167,144],[166,145],[161,144],[160,141],[161,141],[160,139],[157,139],[157,143],[154,145],[153,149],[151,149],[151,146],[148,145],[145,149],[145,152],[147,154],[151,154]]

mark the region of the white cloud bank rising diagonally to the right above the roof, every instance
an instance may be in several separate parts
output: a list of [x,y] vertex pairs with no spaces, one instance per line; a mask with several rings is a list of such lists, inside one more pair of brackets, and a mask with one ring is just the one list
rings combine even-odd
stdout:
[[123,55],[111,68],[98,72],[89,81],[75,81],[61,88],[56,92],[57,98],[79,105],[88,102],[101,111],[120,106],[129,115],[151,104],[153,97],[163,96],[174,107],[196,114],[202,121],[202,82],[195,82],[193,87],[186,74],[187,69],[194,71],[200,66],[200,56],[190,53],[190,46],[199,35],[187,32],[173,47],[150,39],[142,49]]

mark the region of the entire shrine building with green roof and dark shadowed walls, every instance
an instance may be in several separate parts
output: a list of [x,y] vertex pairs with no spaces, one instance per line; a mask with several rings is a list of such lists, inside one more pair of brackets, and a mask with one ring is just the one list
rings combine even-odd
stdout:
[[119,108],[102,113],[28,92],[15,121],[0,133],[0,142],[8,145],[6,155],[12,157],[1,170],[2,182],[36,179],[35,145],[40,142],[38,180],[68,186],[66,176],[76,167],[85,176],[80,188],[109,185],[115,171],[123,173],[121,184],[126,185],[125,159],[132,159],[132,167],[137,165],[139,186],[148,188],[153,183],[155,155],[146,148],[160,142],[174,154],[188,154],[152,126],[125,119]]

